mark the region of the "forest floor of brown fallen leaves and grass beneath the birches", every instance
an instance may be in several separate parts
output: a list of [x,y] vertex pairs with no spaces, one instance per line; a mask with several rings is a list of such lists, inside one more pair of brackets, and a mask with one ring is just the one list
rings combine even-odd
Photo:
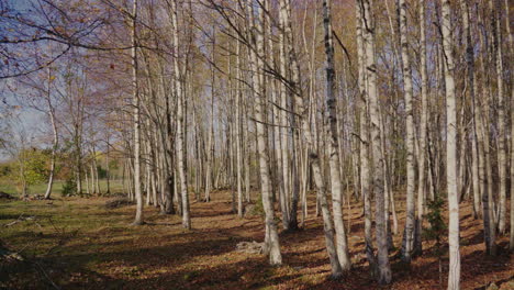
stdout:
[[[210,203],[192,202],[191,231],[181,227],[179,216],[161,215],[150,207],[145,209],[147,223],[131,226],[134,205],[107,209],[112,198],[0,201],[0,239],[25,257],[0,264],[0,289],[446,289],[448,257],[442,259],[439,285],[433,242],[424,242],[424,255],[410,269],[393,258],[398,250],[392,252],[393,282],[378,287],[362,255],[358,202],[350,211],[345,207],[353,269],[339,281],[329,280],[323,224],[311,198],[304,227],[280,233],[281,267],[268,266],[262,255],[235,250],[239,242],[261,242],[264,226],[260,216],[233,214],[226,191],[214,192]],[[404,205],[396,202],[396,247]],[[461,289],[485,289],[491,282],[514,289],[512,256],[504,249],[496,257],[484,255],[482,223],[473,220],[469,202],[462,202],[460,216]],[[500,248],[507,239],[499,237]]]

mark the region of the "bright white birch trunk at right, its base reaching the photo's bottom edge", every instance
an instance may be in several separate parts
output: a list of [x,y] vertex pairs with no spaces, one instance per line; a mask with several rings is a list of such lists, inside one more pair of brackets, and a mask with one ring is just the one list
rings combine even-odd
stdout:
[[457,188],[457,107],[454,81],[454,55],[451,52],[451,8],[450,1],[444,0],[442,19],[443,51],[445,54],[446,89],[446,185],[448,191],[448,243],[449,270],[448,290],[460,289],[459,253],[459,201]]

